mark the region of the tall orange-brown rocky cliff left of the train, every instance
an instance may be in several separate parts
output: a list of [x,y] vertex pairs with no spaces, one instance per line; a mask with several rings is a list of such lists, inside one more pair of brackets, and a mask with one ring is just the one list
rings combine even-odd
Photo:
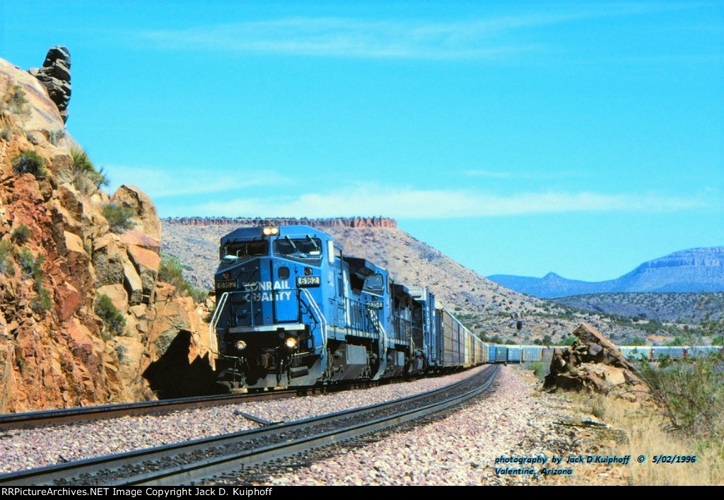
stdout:
[[103,183],[46,86],[0,59],[0,412],[153,399],[169,356],[209,372],[192,299],[159,280],[156,208]]

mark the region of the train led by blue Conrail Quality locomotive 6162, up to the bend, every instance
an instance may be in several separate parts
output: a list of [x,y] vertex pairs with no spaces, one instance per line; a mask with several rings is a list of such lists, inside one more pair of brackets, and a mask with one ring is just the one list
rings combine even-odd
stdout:
[[424,287],[342,253],[306,225],[221,238],[212,349],[229,388],[316,386],[451,370],[488,348]]

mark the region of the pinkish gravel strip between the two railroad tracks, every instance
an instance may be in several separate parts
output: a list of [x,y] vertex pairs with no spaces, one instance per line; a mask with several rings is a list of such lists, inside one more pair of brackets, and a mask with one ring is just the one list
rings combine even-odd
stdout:
[[273,422],[302,420],[431,391],[468,378],[481,367],[445,377],[424,378],[358,391],[251,401],[189,409],[164,415],[121,417],[77,425],[8,430],[0,433],[0,473],[151,448],[260,427],[236,411]]

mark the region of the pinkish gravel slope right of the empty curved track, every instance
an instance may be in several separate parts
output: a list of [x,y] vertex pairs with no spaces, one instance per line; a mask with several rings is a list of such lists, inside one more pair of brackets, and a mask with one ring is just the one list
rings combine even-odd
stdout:
[[[495,464],[498,457],[565,454],[575,433],[555,422],[568,419],[573,404],[560,396],[534,393],[517,370],[503,367],[497,391],[460,411],[381,441],[348,449],[307,467],[290,467],[255,485],[429,485],[539,484],[538,474],[499,473],[540,464]],[[547,464],[550,466],[550,462]]]

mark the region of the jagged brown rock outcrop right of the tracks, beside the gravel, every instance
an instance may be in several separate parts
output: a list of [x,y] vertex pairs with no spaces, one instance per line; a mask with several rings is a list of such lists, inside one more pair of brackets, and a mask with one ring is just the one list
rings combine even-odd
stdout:
[[629,399],[646,391],[636,367],[595,328],[583,324],[573,335],[578,341],[570,349],[554,349],[544,388],[607,393],[618,387]]

